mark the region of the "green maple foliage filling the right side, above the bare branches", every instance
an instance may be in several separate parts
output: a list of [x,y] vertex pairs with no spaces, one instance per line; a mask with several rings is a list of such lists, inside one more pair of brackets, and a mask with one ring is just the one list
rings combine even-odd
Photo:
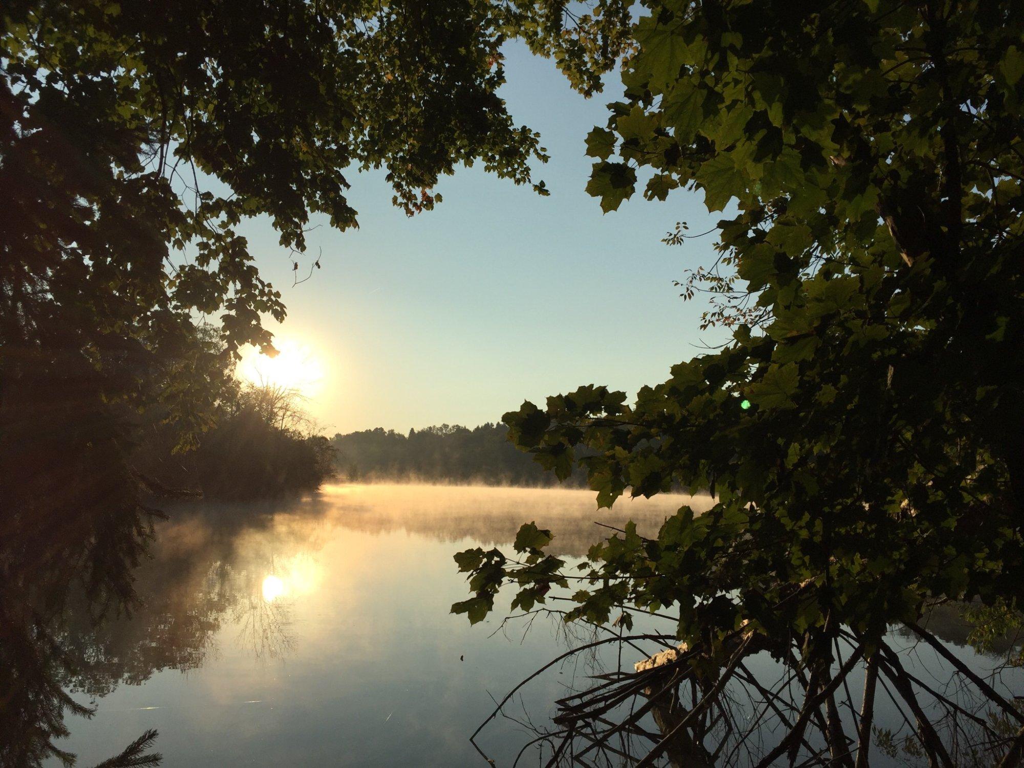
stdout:
[[648,199],[735,201],[719,249],[759,314],[632,406],[587,386],[505,416],[602,506],[716,496],[597,547],[571,615],[674,606],[690,642],[877,637],[928,600],[1019,601],[1024,6],[644,4],[588,188],[614,210],[647,169]]

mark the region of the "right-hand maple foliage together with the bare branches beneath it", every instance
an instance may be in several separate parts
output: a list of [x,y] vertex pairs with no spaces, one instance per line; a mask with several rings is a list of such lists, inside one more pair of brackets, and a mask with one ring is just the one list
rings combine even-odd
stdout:
[[680,282],[732,338],[635,400],[588,385],[504,421],[601,505],[674,483],[717,503],[579,567],[524,525],[513,552],[456,556],[453,610],[478,622],[509,589],[599,643],[664,643],[559,700],[549,764],[1019,765],[1019,678],[974,674],[923,616],[966,601],[980,643],[1021,626],[1024,5],[644,4],[588,189],[728,211],[717,262]]

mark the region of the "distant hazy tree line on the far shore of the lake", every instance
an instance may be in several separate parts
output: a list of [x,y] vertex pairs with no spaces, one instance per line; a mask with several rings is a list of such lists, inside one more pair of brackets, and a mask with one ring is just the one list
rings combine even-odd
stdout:
[[[489,485],[551,485],[555,476],[517,451],[504,424],[470,429],[441,424],[411,429],[409,434],[377,429],[336,434],[338,475],[344,480],[428,480],[479,482]],[[585,486],[577,471],[568,478]]]

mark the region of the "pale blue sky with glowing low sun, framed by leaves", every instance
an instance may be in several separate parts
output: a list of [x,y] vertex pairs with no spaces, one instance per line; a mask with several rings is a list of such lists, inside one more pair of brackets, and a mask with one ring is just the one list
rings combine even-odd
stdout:
[[517,124],[541,133],[551,159],[534,176],[550,197],[477,164],[441,179],[433,211],[407,217],[383,172],[353,172],[359,228],[340,232],[314,217],[322,226],[307,236],[307,253],[323,250],[322,268],[295,287],[269,223],[243,228],[289,316],[267,323],[283,354],[269,362],[250,350],[242,371],[296,383],[329,435],[472,427],[583,384],[632,397],[701,342],[723,338],[698,330],[705,305],[684,302],[673,285],[714,259],[714,236],[662,243],[677,221],[700,232],[723,214],[709,214],[702,194],[685,189],[665,202],[637,193],[602,214],[585,191],[594,162],[585,139],[621,95],[617,75],[586,99],[552,61],[515,45],[506,52],[501,95]]

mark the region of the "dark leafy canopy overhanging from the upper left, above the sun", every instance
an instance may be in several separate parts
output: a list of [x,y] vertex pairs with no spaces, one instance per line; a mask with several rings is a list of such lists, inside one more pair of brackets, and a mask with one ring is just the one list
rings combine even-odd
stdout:
[[134,348],[117,340],[173,347],[198,311],[222,312],[228,352],[268,347],[260,314],[285,307],[240,222],[303,251],[310,214],[356,225],[358,169],[383,166],[408,213],[460,163],[532,183],[544,150],[497,94],[501,46],[524,39],[589,93],[626,40],[624,3],[597,8],[566,30],[525,0],[6,3],[3,341],[50,333],[100,365]]

